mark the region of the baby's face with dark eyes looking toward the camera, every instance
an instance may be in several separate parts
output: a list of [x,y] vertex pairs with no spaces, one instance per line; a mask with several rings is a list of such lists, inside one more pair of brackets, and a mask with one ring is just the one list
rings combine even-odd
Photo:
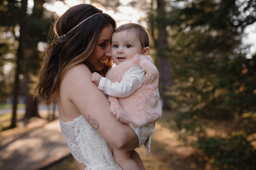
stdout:
[[141,42],[132,31],[122,31],[112,35],[111,57],[116,64],[142,53]]

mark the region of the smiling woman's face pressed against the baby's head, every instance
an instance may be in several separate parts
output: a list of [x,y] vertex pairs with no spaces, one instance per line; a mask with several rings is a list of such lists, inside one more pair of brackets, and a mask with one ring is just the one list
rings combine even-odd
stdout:
[[111,58],[111,37],[114,32],[112,25],[106,26],[100,32],[90,57],[90,63],[96,71],[103,70],[108,58]]

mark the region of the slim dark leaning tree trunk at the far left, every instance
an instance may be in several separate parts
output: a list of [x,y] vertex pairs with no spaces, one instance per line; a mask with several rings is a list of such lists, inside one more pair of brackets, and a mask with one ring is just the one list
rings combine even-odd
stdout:
[[[27,5],[28,5],[28,0],[22,0],[22,5],[21,5],[21,12],[20,14],[22,16],[26,16],[27,12]],[[19,75],[21,73],[21,67],[20,63],[23,58],[23,40],[24,40],[24,22],[20,22],[20,38],[18,39],[19,41],[19,47],[18,47],[18,52],[17,52],[17,67],[15,71],[15,82],[14,82],[14,91],[13,91],[13,116],[12,116],[12,124],[10,128],[15,128],[16,127],[16,111],[17,111],[17,101],[18,101],[18,92],[19,92],[19,87],[20,87],[20,80],[19,80]]]

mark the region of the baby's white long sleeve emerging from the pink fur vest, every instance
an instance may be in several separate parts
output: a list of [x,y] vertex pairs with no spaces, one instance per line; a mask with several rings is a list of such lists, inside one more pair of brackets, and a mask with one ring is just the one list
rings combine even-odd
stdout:
[[111,80],[101,77],[98,89],[113,97],[123,98],[131,95],[143,84],[145,70],[139,66],[130,68],[122,77],[121,82],[111,82]]

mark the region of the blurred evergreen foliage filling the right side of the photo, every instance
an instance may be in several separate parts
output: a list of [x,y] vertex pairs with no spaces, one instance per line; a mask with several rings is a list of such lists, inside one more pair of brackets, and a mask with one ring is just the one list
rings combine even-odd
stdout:
[[[215,169],[254,169],[256,56],[241,42],[256,21],[253,0],[168,1],[168,40],[179,111],[170,127],[207,155]],[[206,129],[232,122],[227,136]],[[196,137],[194,140],[191,137]]]

